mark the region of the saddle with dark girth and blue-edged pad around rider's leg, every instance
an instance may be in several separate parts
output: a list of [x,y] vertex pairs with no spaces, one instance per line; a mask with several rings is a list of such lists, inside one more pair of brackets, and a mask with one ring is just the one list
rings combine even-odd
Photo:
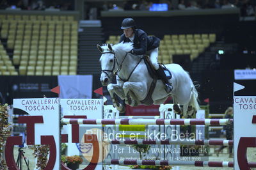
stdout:
[[[161,78],[156,73],[156,70],[154,69],[154,66],[152,65],[152,63],[150,61],[150,58],[148,56],[144,56],[143,60],[144,60],[145,65],[147,66],[148,73],[149,73],[150,77],[153,79],[153,81],[150,84],[150,88],[148,90],[147,96],[140,102],[143,105],[152,105],[154,103],[154,101],[152,100],[152,94],[154,92],[154,89],[156,88],[157,80],[159,80]],[[172,73],[170,72],[170,70],[168,70],[163,64],[159,64],[159,66],[161,66],[164,69],[164,72],[168,73],[167,74],[168,79],[171,79]]]

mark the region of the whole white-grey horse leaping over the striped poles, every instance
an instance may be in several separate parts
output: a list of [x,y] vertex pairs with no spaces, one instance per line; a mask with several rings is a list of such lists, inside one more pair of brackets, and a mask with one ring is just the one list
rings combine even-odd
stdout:
[[[124,105],[118,103],[116,95],[125,100],[125,104],[133,107],[142,105],[143,100],[147,97],[152,77],[148,73],[143,56],[134,56],[129,51],[132,50],[133,43],[118,43],[116,45],[97,45],[102,53],[100,64],[102,73],[100,81],[102,86],[108,86],[109,94],[113,100],[113,105],[120,112],[125,111]],[[188,72],[180,65],[165,65],[172,73],[173,90],[167,94],[164,90],[164,84],[161,80],[156,81],[156,87],[151,95],[152,104],[159,105],[172,95],[173,109],[176,113],[183,112],[185,118],[191,116],[200,109],[198,105],[198,93],[195,89]],[[113,77],[116,76],[116,84],[111,84]],[[180,110],[179,105],[183,105]]]

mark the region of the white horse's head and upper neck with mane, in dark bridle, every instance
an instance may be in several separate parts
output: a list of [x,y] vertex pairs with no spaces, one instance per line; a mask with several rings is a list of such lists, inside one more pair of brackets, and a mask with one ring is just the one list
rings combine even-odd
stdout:
[[113,76],[118,71],[124,56],[127,52],[131,51],[133,43],[118,43],[113,47],[108,45],[97,45],[97,48],[101,52],[100,65],[101,75],[100,81],[102,86],[108,86],[111,83]]

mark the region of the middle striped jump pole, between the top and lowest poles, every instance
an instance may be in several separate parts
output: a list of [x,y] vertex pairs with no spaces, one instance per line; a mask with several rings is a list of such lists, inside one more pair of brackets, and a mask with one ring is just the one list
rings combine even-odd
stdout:
[[110,141],[110,143],[111,144],[188,144],[188,145],[232,146],[233,140],[189,140],[189,141],[176,140],[176,141],[172,141],[170,139],[165,139],[165,140],[120,139],[120,140]]

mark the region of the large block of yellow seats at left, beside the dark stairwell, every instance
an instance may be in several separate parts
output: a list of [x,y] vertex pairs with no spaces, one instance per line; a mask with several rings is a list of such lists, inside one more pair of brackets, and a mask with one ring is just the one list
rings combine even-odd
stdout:
[[[0,15],[1,39],[13,51],[9,59],[1,47],[1,74],[75,75],[77,21],[68,15]],[[4,54],[5,51],[5,54]],[[2,54],[3,53],[3,54]],[[2,66],[3,65],[3,66]],[[9,72],[9,73],[8,73]]]

